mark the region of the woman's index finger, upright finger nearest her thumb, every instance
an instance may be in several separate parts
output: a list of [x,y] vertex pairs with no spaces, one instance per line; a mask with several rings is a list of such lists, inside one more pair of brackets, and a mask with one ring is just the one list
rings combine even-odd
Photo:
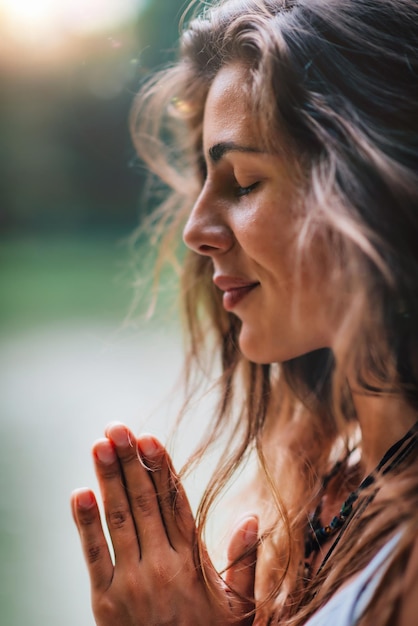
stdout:
[[151,470],[171,546],[177,551],[193,546],[196,533],[193,513],[170,456],[151,435],[142,435],[138,447],[144,464]]

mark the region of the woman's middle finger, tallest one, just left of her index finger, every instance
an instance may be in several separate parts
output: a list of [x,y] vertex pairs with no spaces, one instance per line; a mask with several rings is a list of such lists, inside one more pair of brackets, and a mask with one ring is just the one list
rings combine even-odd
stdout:
[[125,494],[139,537],[141,557],[169,546],[150,472],[138,455],[135,436],[124,424],[111,424],[106,435],[115,446],[123,473]]

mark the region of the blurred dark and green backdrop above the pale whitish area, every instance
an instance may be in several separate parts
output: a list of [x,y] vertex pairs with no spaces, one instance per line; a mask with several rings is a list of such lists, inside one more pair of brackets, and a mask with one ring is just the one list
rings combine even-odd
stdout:
[[128,115],[173,58],[186,5],[0,0],[4,331],[126,312],[126,240],[148,210]]

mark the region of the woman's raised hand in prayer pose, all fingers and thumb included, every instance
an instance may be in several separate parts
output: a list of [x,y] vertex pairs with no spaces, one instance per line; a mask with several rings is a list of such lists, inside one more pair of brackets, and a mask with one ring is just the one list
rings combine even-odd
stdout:
[[[97,502],[90,490],[72,496],[87,562],[98,626],[206,626],[252,623],[257,519],[243,520],[232,537],[234,563],[223,582],[196,554],[196,527],[183,487],[163,446],[138,440],[122,424],[93,447],[113,564]],[[204,576],[209,578],[210,586]],[[231,589],[233,591],[231,591]]]

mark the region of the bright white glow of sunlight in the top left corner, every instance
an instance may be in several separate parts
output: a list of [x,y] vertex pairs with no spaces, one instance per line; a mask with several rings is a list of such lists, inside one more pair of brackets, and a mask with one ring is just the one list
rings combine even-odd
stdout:
[[138,14],[148,0],[1,0],[3,27],[15,39],[65,39],[115,27]]

